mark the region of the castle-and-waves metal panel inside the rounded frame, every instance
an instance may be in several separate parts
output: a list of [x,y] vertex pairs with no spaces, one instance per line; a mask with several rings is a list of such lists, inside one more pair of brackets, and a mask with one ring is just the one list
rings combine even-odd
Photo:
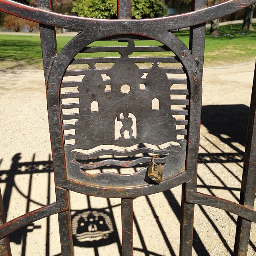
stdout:
[[[77,58],[72,64],[88,68],[66,72],[71,81],[61,84],[61,118],[65,154],[72,159],[67,166],[84,175],[100,173],[109,165],[139,171],[157,154],[156,161],[167,170],[166,180],[184,169],[187,76],[166,46],[146,49],[169,51],[166,57],[136,57],[133,54],[140,54],[142,47],[131,38],[121,40],[127,46],[100,47],[120,57]],[[95,51],[99,47],[83,52]],[[101,61],[110,68],[97,68]],[[76,81],[77,75],[83,76],[81,81]]]

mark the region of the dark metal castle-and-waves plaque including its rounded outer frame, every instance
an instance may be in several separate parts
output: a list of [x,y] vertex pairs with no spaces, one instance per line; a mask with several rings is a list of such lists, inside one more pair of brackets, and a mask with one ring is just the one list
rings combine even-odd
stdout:
[[[189,167],[186,171],[184,171],[184,164],[187,136],[188,138],[189,136],[193,138],[188,145],[188,148],[191,148],[190,152],[193,152],[194,148],[198,148],[199,144],[200,122],[198,122],[198,120],[200,116],[197,113],[200,112],[201,107],[200,72],[189,50],[170,32],[166,32],[165,38],[161,38],[161,43],[168,47],[168,51],[172,51],[171,57],[128,57],[129,54],[136,51],[133,50],[134,48],[136,49],[134,41],[129,38],[117,38],[119,40],[128,41],[128,46],[115,49],[115,51],[120,53],[120,58],[104,58],[105,63],[115,63],[111,69],[94,68],[95,64],[103,61],[102,58],[82,58],[73,60],[79,52],[84,51],[84,47],[88,44],[95,40],[104,39],[114,32],[114,30],[108,30],[104,32],[104,36],[98,37],[97,35],[97,38],[90,40],[88,40],[87,33],[82,32],[74,37],[54,60],[47,84],[48,113],[50,119],[54,120],[54,123],[50,122],[50,131],[51,134],[54,134],[54,136],[52,136],[52,145],[53,147],[61,145],[60,143],[62,143],[63,139],[64,141],[68,138],[73,140],[71,144],[64,144],[62,156],[59,150],[53,151],[53,158],[58,162],[58,166],[55,166],[55,172],[57,173],[56,184],[89,195],[95,195],[95,193],[97,193],[97,196],[101,196],[103,193],[104,197],[119,197],[113,188],[120,189],[122,191],[122,197],[135,197],[164,191],[177,186],[178,183],[182,184],[195,177],[195,172],[193,171],[196,161],[195,154],[188,154],[187,165]],[[145,32],[144,35],[145,38],[142,38],[144,40],[147,39],[146,37],[157,38],[157,32],[154,33],[154,31],[148,31],[148,34]],[[141,37],[138,38],[135,36],[135,39],[141,39]],[[92,50],[90,49],[90,51]],[[97,49],[95,51],[97,51]],[[111,51],[113,51],[113,49]],[[67,58],[67,53],[69,59]],[[173,57],[173,54],[176,56]],[[153,67],[151,67],[151,69],[138,68],[135,64],[137,62],[153,63]],[[157,64],[159,62],[180,62],[183,68],[159,68]],[[89,69],[66,72],[69,63],[71,65],[87,63],[89,64]],[[52,75],[56,73],[60,73],[61,75],[58,77]],[[143,73],[148,73],[146,79],[141,79]],[[177,73],[185,73],[187,79],[168,79],[167,74]],[[75,77],[74,81],[62,82],[61,77],[64,77],[65,74],[66,76],[81,74],[85,76],[81,82],[75,81]],[[105,82],[102,80],[103,74],[110,77],[111,81]],[[136,74],[136,76],[134,74]],[[158,79],[156,79],[157,76]],[[122,79],[120,79],[120,77],[122,77]],[[90,86],[88,85],[89,80]],[[104,90],[106,83],[110,84],[111,91]],[[145,84],[146,90],[139,88],[142,83]],[[121,91],[122,86],[125,84],[130,87],[128,93]],[[157,86],[155,84],[157,84]],[[182,102],[179,102],[179,100],[171,100],[172,84],[189,84],[189,88],[185,87],[181,92],[174,92],[175,94],[186,95],[189,90],[189,98],[182,100]],[[61,104],[65,98],[70,97],[68,96],[69,93],[61,93],[58,95],[59,87],[65,88],[74,86],[78,87],[78,93],[70,94],[72,97],[79,97],[79,104],[77,104],[75,109],[75,111],[77,111],[79,108],[79,113],[67,112],[64,108],[65,104]],[[154,87],[156,88],[153,89]],[[159,95],[159,93],[163,96],[158,97],[157,95]],[[159,110],[152,109],[152,102],[155,98],[159,100]],[[97,103],[98,110],[92,111],[92,103],[95,102]],[[66,108],[72,111],[72,106],[74,108],[74,105],[67,104]],[[172,110],[172,105],[190,105],[190,108],[189,110]],[[61,109],[61,116],[59,115],[59,108]],[[102,115],[102,113],[105,113],[105,115]],[[121,120],[120,115],[126,115],[127,113],[136,118],[136,121],[133,123],[136,123],[137,134],[133,136],[130,134],[130,138],[115,138],[115,120],[117,120],[118,116]],[[174,115],[184,116],[184,119],[177,118],[176,121],[176,118],[173,117]],[[128,116],[128,119],[129,118],[131,117]],[[181,122],[185,124],[186,119],[191,123],[189,132],[187,132],[186,129],[177,129],[179,120],[182,120]],[[76,120],[76,122],[70,124],[68,120]],[[58,131],[63,131],[63,133],[56,133],[57,129]],[[64,131],[70,129],[75,130],[74,134],[65,135]],[[154,133],[156,133],[156,137],[151,136]],[[183,138],[179,139],[178,135],[184,135],[185,137],[183,136]],[[150,147],[143,146],[143,143],[149,144]],[[167,146],[164,149],[152,149],[152,146],[158,146],[158,148],[160,148],[166,143],[175,144],[171,144],[171,146]],[[104,145],[105,149],[100,148],[102,145]],[[138,149],[133,151],[127,150],[127,148],[131,146],[136,146]],[[126,152],[120,151],[119,148],[125,148]],[[54,155],[55,152],[57,153],[56,156]],[[172,154],[170,154],[170,152],[172,152]],[[156,187],[154,184],[150,184],[148,181],[144,180],[146,175],[145,167],[135,174],[126,176],[111,172],[88,174],[83,171],[83,169],[94,169],[95,167],[107,166],[109,164],[115,164],[116,166],[125,166],[125,164],[134,166],[145,162],[149,164],[151,157],[148,156],[143,156],[135,160],[130,159],[128,162],[117,159],[106,159],[105,161],[93,163],[93,159],[105,155],[111,154],[125,157],[127,155],[134,156],[139,153],[146,155],[153,153],[164,156],[163,159],[160,159],[160,161],[164,162],[164,177],[163,182],[161,182],[159,186]],[[66,159],[65,164],[67,165],[66,170],[63,169],[64,163],[62,163],[64,161],[64,155]],[[88,164],[86,160],[90,164]],[[188,164],[188,162],[191,162],[191,165]],[[158,163],[158,161],[156,161],[156,163]],[[136,179],[134,179],[134,177],[136,177]],[[74,184],[77,183],[82,184],[82,186],[74,186]]]

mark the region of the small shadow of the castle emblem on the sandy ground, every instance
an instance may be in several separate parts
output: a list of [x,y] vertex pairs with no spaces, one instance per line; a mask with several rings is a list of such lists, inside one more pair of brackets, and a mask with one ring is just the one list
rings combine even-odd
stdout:
[[114,229],[105,210],[75,211],[72,215],[72,235],[75,246],[95,247],[114,243]]

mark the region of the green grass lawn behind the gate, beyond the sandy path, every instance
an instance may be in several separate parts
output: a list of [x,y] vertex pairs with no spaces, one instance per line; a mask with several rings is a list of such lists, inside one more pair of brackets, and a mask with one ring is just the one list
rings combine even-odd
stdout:
[[[256,23],[253,24],[256,27]],[[216,66],[248,62],[256,56],[256,31],[241,31],[241,24],[220,26],[220,36],[209,36],[207,28],[205,40],[205,66]],[[174,32],[188,46],[189,31]],[[57,36],[60,51],[71,36]],[[95,42],[94,46],[113,45],[113,41]],[[120,43],[118,43],[120,44]],[[125,44],[125,43],[121,43]],[[137,45],[158,45],[156,41],[137,41]],[[167,56],[168,53],[153,53],[153,56]],[[87,54],[93,56],[119,56],[117,53]],[[137,55],[134,53],[133,55]],[[143,53],[147,56],[147,53]],[[151,55],[152,56],[152,55]],[[39,36],[0,35],[0,68],[42,68],[42,55]]]

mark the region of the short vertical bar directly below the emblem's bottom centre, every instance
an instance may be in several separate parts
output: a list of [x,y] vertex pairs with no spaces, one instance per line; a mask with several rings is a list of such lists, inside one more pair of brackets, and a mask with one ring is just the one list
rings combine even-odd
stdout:
[[121,198],[123,256],[133,255],[133,199]]

